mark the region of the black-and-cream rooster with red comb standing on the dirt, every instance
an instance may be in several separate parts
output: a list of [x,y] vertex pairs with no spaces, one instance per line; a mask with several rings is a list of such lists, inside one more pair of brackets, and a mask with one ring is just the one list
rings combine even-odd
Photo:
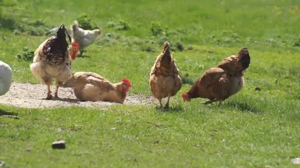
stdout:
[[46,34],[52,31],[56,32],[56,36],[52,36],[41,43],[35,52],[33,63],[30,65],[31,72],[40,81],[48,85],[47,100],[52,98],[50,85],[52,79],[55,80],[56,91],[55,97],[58,97],[58,88],[64,84],[72,75],[71,59],[75,59],[78,51],[78,44],[72,43],[68,49],[68,36],[71,42],[71,36],[64,25],[53,28]]

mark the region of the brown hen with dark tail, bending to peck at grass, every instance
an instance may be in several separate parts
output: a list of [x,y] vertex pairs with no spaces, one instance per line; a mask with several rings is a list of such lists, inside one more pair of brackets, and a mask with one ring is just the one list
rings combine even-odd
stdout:
[[182,93],[183,100],[201,97],[209,99],[204,104],[222,102],[243,87],[244,72],[249,64],[250,55],[245,47],[236,56],[229,56],[218,66],[206,71],[188,92]]

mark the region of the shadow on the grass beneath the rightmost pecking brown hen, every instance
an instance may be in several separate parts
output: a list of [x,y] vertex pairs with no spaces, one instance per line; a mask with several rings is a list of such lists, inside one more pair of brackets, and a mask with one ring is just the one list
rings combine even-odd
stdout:
[[261,114],[263,115],[263,112],[258,110],[255,106],[252,106],[251,104],[248,104],[247,102],[226,102],[224,104],[225,107],[231,107],[234,109],[238,109],[243,112],[251,112],[255,114]]

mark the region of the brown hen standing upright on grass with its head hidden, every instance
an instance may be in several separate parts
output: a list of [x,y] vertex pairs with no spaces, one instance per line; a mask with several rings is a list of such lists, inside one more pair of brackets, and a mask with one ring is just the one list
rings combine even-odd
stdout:
[[176,95],[181,89],[179,70],[170,53],[170,44],[166,41],[162,53],[157,56],[150,72],[150,88],[153,95],[158,99],[162,108],[161,99],[167,97],[165,109],[169,108],[170,97]]

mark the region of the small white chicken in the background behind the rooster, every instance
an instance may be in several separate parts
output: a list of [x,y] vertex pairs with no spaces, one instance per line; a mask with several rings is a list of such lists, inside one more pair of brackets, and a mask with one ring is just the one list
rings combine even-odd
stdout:
[[83,49],[94,42],[98,35],[101,34],[100,29],[84,30],[78,27],[78,22],[74,21],[71,26],[73,41],[79,44],[80,56],[83,54]]

